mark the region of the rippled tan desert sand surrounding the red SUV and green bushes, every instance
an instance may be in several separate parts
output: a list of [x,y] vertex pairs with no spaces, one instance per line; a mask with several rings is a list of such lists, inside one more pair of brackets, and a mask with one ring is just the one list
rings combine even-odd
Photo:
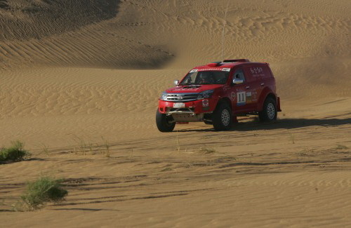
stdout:
[[[270,62],[282,112],[159,133],[157,100],[221,60],[226,0],[0,1],[0,227],[351,227],[351,3],[230,0],[225,58]],[[107,157],[106,145],[110,145]]]

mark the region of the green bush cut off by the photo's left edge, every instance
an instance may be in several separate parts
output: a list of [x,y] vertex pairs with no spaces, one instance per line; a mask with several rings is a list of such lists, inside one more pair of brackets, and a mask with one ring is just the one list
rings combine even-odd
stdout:
[[11,147],[0,149],[0,161],[23,161],[30,156],[30,153],[23,149],[23,142],[14,141],[11,144]]

